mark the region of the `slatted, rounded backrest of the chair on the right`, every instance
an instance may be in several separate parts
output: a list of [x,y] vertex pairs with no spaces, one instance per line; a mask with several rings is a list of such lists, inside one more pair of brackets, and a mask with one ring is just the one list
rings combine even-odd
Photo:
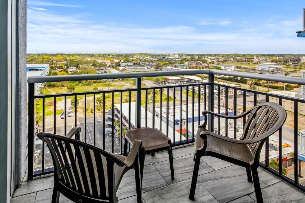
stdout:
[[282,127],[286,120],[286,111],[277,103],[266,102],[250,109],[248,115],[241,139],[257,138],[264,133],[261,141],[249,144],[254,155],[257,149],[262,146],[260,143]]

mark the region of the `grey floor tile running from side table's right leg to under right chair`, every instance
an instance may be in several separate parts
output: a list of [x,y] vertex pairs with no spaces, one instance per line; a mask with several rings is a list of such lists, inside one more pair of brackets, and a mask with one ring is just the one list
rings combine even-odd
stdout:
[[[195,162],[193,161],[193,155],[182,156],[182,157],[174,159],[175,180],[171,179],[170,164],[168,161],[155,163],[153,165],[160,172],[160,174],[167,181],[168,184],[173,184],[173,183],[179,182],[181,180],[186,180],[188,178],[191,178],[193,175],[194,163]],[[209,165],[207,165],[203,161],[200,162],[199,173],[198,173],[199,175],[202,175],[204,173],[208,173],[211,171],[213,171],[213,168],[211,168]]]

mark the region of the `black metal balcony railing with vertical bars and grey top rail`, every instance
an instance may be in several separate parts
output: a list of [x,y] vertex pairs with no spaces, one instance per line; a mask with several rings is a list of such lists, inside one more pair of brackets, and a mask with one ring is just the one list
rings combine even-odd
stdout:
[[[198,74],[207,74],[208,82],[153,87],[142,86],[142,78],[145,77]],[[83,133],[81,135],[81,140],[83,142],[120,154],[123,153],[122,149],[124,146],[123,128],[127,128],[127,130],[144,126],[158,128],[172,139],[173,146],[178,146],[194,142],[199,124],[200,122],[203,122],[203,116],[201,114],[203,110],[210,110],[219,114],[236,115],[248,110],[250,107],[256,106],[258,103],[272,101],[281,104],[284,108],[286,106],[285,103],[289,103],[289,108],[291,109],[286,108],[288,118],[285,123],[287,125],[284,125],[283,127],[285,129],[281,128],[277,135],[272,135],[271,138],[266,141],[265,149],[262,150],[260,157],[261,166],[267,171],[305,191],[305,180],[301,176],[303,162],[298,157],[299,145],[301,145],[298,136],[300,120],[300,112],[298,109],[299,104],[302,105],[302,107],[303,104],[305,105],[305,100],[302,98],[223,85],[214,82],[215,74],[305,85],[305,81],[301,78],[211,69],[29,77],[28,180],[32,180],[33,177],[36,176],[52,173],[53,171],[52,160],[48,153],[48,148],[45,147],[43,141],[37,140],[35,136],[35,133],[38,131],[37,124],[34,120],[35,114],[38,113],[34,109],[36,100],[42,100],[42,128],[40,131],[58,133],[58,125],[56,124],[56,120],[58,120],[56,118],[56,100],[60,98],[64,101],[63,111],[65,112],[65,116],[63,131],[59,134],[66,135],[69,128],[81,126]],[[124,78],[135,79],[135,87],[127,89],[34,95],[34,83],[39,82]],[[159,98],[156,96],[158,95],[156,94],[157,92]],[[108,96],[111,97],[111,105],[106,107],[105,99]],[[80,97],[84,97],[84,115],[82,116],[77,114],[77,109],[79,108],[78,98]],[[92,115],[90,116],[87,115],[88,97],[93,99]],[[102,99],[99,99],[99,103],[97,103],[97,98],[99,97]],[[123,103],[124,97],[125,100]],[[68,124],[66,113],[67,99],[71,98],[74,98],[75,101],[73,105],[74,122],[71,121],[72,118],[69,118],[70,123]],[[115,102],[115,98],[119,98],[116,99],[117,102]],[[46,126],[45,121],[46,101],[53,103],[54,107],[52,115],[53,126],[51,128]],[[99,112],[97,112],[97,108],[99,109]],[[115,126],[114,123],[117,120],[120,124]],[[208,128],[211,131],[236,139],[240,138],[242,135],[242,129],[243,125],[246,123],[246,118],[228,121],[228,119],[213,117],[213,119],[208,119],[208,121]],[[102,128],[102,131],[97,130],[97,128]],[[300,125],[300,128],[303,128],[303,124]],[[62,127],[60,130],[62,130]],[[285,132],[283,133],[283,131]],[[283,135],[285,136],[285,139],[283,139]],[[304,146],[304,144],[301,146]],[[285,155],[284,158],[283,155]],[[287,156],[289,156],[289,158]],[[278,167],[269,166],[269,161],[271,159],[278,162]],[[283,171],[283,167],[288,171]]]

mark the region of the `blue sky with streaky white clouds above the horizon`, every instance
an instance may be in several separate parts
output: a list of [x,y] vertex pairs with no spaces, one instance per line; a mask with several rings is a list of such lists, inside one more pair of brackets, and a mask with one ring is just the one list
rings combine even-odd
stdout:
[[27,1],[27,53],[305,53],[304,1]]

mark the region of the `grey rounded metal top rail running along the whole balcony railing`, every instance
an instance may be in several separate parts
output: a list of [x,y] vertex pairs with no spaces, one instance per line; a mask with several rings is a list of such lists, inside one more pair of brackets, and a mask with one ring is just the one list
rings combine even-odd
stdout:
[[66,81],[80,81],[80,80],[103,80],[103,79],[124,79],[124,78],[143,78],[143,77],[158,77],[158,76],[175,76],[175,75],[197,75],[197,74],[219,74],[228,76],[237,76],[251,79],[260,79],[273,82],[285,82],[290,84],[305,85],[305,79],[269,75],[259,73],[225,71],[217,69],[200,69],[200,70],[182,70],[182,71],[153,71],[153,72],[131,72],[131,73],[108,73],[108,74],[87,74],[87,75],[56,75],[56,76],[38,76],[28,77],[27,83],[38,82],[66,82]]

